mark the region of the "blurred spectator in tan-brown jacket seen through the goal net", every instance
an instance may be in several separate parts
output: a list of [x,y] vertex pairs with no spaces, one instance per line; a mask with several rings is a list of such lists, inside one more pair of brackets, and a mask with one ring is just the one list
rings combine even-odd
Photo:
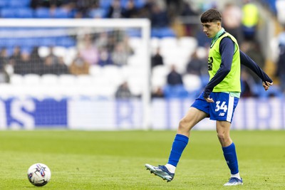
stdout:
[[87,63],[79,53],[69,66],[70,73],[73,75],[88,75],[89,68],[90,64]]

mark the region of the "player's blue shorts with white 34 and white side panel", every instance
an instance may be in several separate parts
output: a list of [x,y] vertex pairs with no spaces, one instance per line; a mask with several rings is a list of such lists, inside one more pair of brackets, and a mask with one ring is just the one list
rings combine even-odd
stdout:
[[191,107],[207,113],[210,120],[232,122],[239,98],[233,97],[229,93],[211,93],[209,97],[212,97],[214,102],[209,103],[204,100],[203,94],[204,92],[197,97]]

